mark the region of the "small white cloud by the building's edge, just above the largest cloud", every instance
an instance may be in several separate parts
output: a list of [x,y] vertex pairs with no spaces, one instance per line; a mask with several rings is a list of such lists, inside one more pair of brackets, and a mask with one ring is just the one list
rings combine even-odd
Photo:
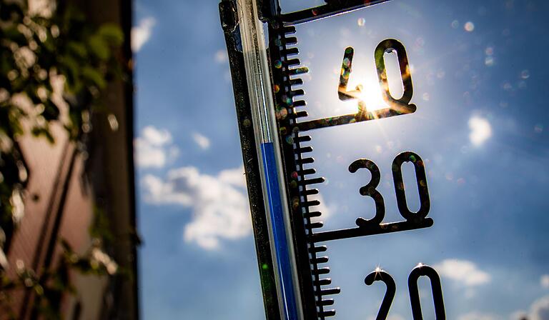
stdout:
[[169,159],[175,159],[179,150],[172,144],[172,135],[165,129],[146,126],[141,136],[134,139],[135,161],[142,168],[162,168]]

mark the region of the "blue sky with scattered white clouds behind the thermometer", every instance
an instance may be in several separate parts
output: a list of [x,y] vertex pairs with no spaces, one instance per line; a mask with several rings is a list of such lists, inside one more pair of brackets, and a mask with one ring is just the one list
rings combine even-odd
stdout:
[[[139,0],[134,11],[144,319],[263,319],[217,1]],[[315,169],[327,178],[325,229],[372,216],[371,199],[358,193],[368,174],[347,171],[359,158],[380,167],[384,221],[401,219],[390,165],[407,150],[425,160],[435,221],[328,242],[330,276],[342,288],[337,319],[374,319],[384,289],[363,279],[376,266],[397,282],[390,319],[410,319],[407,275],[418,262],[439,272],[448,319],[549,319],[548,11],[545,1],[394,0],[297,26],[310,119],[357,107],[337,99],[345,47],[355,49],[350,86],[363,84],[370,97],[379,95],[380,41],[401,41],[412,65],[415,114],[311,132]],[[427,285],[420,281],[422,307],[432,319]]]

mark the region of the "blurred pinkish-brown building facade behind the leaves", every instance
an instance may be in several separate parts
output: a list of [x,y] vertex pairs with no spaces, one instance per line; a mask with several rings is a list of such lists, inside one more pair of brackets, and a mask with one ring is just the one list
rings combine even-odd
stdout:
[[[131,65],[129,0],[69,0],[90,23],[112,22],[124,31],[123,56]],[[17,266],[38,275],[59,262],[61,239],[78,253],[91,247],[89,229],[98,213],[108,221],[112,239],[104,251],[117,262],[112,276],[71,272],[76,294],[61,297],[64,319],[138,319],[137,244],[133,165],[132,77],[113,81],[105,90],[108,114],[92,117],[93,129],[82,148],[61,126],[53,127],[55,144],[25,136],[19,141],[28,169],[24,216],[3,248],[7,272]],[[82,151],[85,150],[85,151]],[[41,319],[31,310],[33,290],[18,292],[14,310],[19,319]],[[0,315],[2,319],[2,315]]]

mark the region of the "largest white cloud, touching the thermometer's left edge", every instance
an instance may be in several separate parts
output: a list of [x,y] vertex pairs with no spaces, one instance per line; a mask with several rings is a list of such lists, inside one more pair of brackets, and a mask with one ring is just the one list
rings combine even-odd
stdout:
[[222,239],[239,239],[251,234],[242,167],[210,176],[187,166],[169,171],[165,180],[147,175],[142,183],[145,201],[192,209],[192,220],[184,227],[184,241],[212,250],[219,248]]

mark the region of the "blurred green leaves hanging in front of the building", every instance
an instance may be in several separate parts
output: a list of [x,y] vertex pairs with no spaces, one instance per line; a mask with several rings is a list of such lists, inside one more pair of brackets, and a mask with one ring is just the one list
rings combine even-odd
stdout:
[[[18,139],[32,134],[53,144],[51,125],[57,123],[69,139],[81,141],[91,130],[91,111],[104,109],[102,90],[110,80],[124,79],[123,41],[119,26],[94,26],[70,6],[30,14],[26,1],[0,0],[0,249],[24,212],[29,173]],[[96,219],[99,227],[94,224],[91,236],[105,238],[107,221]],[[95,241],[79,256],[63,243],[59,265],[40,275],[24,266],[17,266],[17,279],[0,273],[1,314],[11,312],[9,292],[26,288],[38,296],[41,315],[59,319],[61,294],[74,291],[69,269],[85,274],[117,269],[100,244]]]

